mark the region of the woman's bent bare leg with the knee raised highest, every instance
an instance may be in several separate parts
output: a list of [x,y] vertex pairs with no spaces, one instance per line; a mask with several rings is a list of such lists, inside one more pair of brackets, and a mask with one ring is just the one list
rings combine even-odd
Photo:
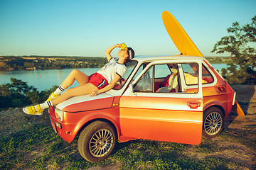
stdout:
[[87,84],[87,82],[89,81],[89,77],[85,73],[81,72],[80,70],[73,69],[73,71],[70,72],[70,74],[68,74],[68,77],[65,78],[61,86],[64,89],[67,89],[69,86],[71,86],[74,83],[75,80],[78,81],[80,85],[84,85],[84,84]]

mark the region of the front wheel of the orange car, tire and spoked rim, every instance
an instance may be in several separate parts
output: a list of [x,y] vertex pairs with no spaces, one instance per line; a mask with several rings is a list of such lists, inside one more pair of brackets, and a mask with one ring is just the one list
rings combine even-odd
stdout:
[[87,161],[100,162],[111,154],[116,139],[116,132],[110,123],[95,121],[82,130],[78,151]]

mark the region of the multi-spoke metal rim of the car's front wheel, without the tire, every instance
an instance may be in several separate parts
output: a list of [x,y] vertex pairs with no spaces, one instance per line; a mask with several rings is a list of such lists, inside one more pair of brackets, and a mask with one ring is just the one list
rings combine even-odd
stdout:
[[110,130],[101,129],[92,135],[89,143],[90,153],[94,157],[103,157],[105,154],[110,152],[113,146],[113,135]]

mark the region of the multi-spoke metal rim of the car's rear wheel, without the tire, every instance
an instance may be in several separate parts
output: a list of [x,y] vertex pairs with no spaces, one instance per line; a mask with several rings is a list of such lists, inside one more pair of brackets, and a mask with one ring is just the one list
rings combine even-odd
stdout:
[[204,128],[208,135],[215,135],[217,134],[223,125],[223,118],[221,117],[220,113],[213,112],[210,113],[204,122]]

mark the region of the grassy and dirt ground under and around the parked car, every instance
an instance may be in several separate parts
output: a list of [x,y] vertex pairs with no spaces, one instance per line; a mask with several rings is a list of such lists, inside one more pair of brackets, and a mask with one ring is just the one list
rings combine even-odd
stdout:
[[0,113],[0,169],[256,169],[256,86],[235,85],[245,118],[231,113],[223,132],[201,145],[134,140],[117,145],[104,162],[86,162],[75,142],[50,128],[48,113]]

